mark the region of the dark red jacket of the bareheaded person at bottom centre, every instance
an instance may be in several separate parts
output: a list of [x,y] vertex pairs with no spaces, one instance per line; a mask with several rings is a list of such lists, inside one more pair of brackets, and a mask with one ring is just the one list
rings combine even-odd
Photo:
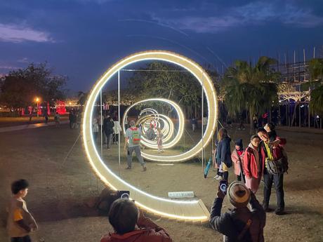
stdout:
[[171,236],[167,232],[154,224],[152,220],[147,217],[140,218],[137,222],[138,227],[129,233],[120,235],[109,233],[101,238],[100,242],[171,242]]

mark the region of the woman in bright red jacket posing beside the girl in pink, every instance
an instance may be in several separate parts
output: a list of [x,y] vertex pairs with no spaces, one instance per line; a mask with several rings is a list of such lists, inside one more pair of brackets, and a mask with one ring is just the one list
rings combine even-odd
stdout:
[[246,187],[256,194],[261,176],[263,175],[263,162],[259,157],[258,146],[261,139],[258,135],[251,136],[251,142],[244,152],[243,167],[246,177]]

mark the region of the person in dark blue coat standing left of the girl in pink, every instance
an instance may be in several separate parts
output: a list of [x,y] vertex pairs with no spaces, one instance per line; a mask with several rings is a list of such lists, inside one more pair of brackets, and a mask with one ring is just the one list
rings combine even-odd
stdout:
[[218,147],[216,148],[216,163],[218,163],[220,175],[217,180],[219,180],[220,177],[223,177],[224,180],[228,181],[228,168],[232,166],[230,151],[231,138],[228,136],[228,131],[225,128],[220,128],[220,130],[218,130],[218,140]]

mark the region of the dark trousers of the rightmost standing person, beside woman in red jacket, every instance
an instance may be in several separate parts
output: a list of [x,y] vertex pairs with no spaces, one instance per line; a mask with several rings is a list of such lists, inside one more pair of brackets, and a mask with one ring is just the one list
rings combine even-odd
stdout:
[[278,175],[269,174],[265,169],[265,173],[263,174],[263,180],[265,182],[265,187],[263,188],[263,205],[269,205],[270,194],[272,192],[272,182],[274,182],[277,196],[277,208],[284,209],[284,173]]

